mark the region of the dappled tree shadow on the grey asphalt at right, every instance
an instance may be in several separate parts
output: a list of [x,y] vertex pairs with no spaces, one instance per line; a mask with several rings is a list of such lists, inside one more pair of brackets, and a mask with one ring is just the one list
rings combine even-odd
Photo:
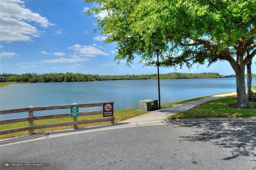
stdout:
[[[244,121],[208,121],[173,123],[179,127],[195,128],[191,136],[179,136],[182,140],[191,142],[211,142],[216,146],[229,148],[232,156],[256,157],[256,122]],[[256,162],[256,160],[254,160]]]

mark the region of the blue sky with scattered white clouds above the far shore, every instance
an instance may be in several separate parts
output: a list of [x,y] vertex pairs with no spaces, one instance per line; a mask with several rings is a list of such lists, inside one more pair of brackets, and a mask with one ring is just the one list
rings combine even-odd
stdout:
[[[1,0],[0,73],[84,73],[98,75],[154,74],[156,67],[143,67],[139,56],[131,67],[114,61],[115,44],[103,44],[106,36],[96,28],[94,16],[82,0]],[[104,12],[102,12],[104,16]],[[254,57],[253,62],[256,59]],[[234,74],[228,62],[192,69],[164,69],[160,74],[218,72]],[[252,65],[252,73],[256,67]]]

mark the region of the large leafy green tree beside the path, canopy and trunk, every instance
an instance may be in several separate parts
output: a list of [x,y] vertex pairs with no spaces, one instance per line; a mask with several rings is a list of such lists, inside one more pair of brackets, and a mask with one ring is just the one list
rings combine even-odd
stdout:
[[[248,107],[245,65],[256,54],[256,0],[85,0],[97,29],[116,43],[115,60],[136,55],[155,65],[177,67],[226,60],[236,73],[237,105]],[[106,16],[100,15],[102,12]],[[245,57],[246,56],[246,57]]]

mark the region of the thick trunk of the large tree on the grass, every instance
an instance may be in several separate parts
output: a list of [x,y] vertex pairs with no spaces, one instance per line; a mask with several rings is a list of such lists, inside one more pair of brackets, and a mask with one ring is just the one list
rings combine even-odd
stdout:
[[245,81],[244,81],[244,71],[245,65],[239,64],[237,69],[234,69],[236,73],[236,93],[237,93],[237,105],[238,107],[250,107],[246,95]]

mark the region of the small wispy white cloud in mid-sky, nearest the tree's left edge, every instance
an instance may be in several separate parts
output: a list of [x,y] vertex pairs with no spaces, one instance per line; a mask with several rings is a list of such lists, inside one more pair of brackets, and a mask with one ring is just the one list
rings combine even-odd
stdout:
[[68,47],[68,49],[72,49],[73,51],[75,51],[73,55],[84,56],[84,57],[95,57],[96,55],[109,55],[91,45],[76,44],[71,47]]

